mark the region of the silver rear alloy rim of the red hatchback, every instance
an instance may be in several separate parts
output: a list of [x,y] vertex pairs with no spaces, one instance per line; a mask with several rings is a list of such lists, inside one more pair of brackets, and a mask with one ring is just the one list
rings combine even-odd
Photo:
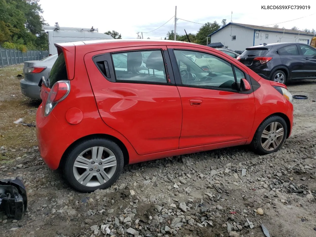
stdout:
[[115,173],[117,159],[106,147],[91,147],[82,151],[73,164],[73,174],[78,183],[87,187],[105,184]]

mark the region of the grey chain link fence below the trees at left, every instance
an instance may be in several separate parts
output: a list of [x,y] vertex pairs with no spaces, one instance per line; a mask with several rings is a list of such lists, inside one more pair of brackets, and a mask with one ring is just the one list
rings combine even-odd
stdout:
[[21,52],[15,49],[5,49],[0,47],[0,68],[21,64],[25,61],[40,60],[48,56],[48,51],[28,50]]

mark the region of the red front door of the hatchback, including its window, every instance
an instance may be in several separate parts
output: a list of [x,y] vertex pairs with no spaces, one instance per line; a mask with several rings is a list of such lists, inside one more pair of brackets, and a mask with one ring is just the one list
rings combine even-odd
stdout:
[[[238,85],[241,78],[251,83],[246,72],[231,64],[232,59],[216,52],[195,47],[167,47],[183,110],[179,148],[246,142],[254,121],[254,95],[232,86]],[[200,65],[186,58],[198,53],[207,54],[207,58],[220,65],[219,72],[216,67],[211,73],[201,70]],[[179,63],[185,64],[187,69],[180,72]]]

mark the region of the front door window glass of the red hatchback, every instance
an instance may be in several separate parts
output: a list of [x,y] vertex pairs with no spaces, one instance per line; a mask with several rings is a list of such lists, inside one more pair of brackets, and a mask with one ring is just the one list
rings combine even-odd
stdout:
[[174,50],[174,55],[183,85],[236,89],[232,65],[222,58],[187,50]]

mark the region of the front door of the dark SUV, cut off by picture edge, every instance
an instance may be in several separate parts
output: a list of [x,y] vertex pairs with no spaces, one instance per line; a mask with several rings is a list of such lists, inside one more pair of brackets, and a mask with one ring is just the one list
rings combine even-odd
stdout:
[[304,61],[302,73],[305,77],[316,76],[316,49],[306,44],[299,44],[298,47]]

